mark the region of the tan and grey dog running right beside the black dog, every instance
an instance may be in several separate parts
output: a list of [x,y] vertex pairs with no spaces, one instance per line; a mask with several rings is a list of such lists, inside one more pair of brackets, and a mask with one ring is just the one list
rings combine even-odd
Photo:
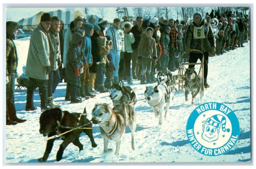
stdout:
[[126,112],[124,104],[113,109],[106,103],[95,104],[92,109],[92,123],[99,124],[100,135],[104,138],[104,151],[108,152],[108,140],[116,141],[116,158],[119,156],[121,140],[125,132]]

